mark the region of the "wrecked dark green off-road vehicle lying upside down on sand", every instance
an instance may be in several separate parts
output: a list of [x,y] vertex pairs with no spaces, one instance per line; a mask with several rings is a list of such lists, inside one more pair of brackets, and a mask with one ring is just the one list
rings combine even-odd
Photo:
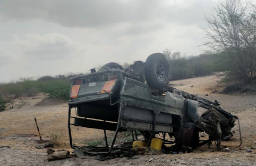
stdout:
[[[146,62],[135,61],[123,69],[117,63],[107,63],[96,72],[72,78],[69,101],[69,135],[71,125],[104,130],[107,151],[111,153],[118,132],[132,131],[138,139],[140,131],[150,146],[156,134],[163,133],[164,144],[197,147],[202,144],[199,132],[209,134],[217,142],[233,136],[231,130],[237,116],[221,109],[217,100],[209,100],[173,88],[169,84],[168,57],[162,53],[151,54]],[[199,107],[207,109],[200,117]],[[76,108],[76,116],[71,116]],[[72,119],[72,121],[71,121]],[[72,123],[71,123],[72,122]],[[106,130],[115,131],[110,146]],[[166,139],[166,134],[175,138]],[[135,136],[134,136],[135,135]]]

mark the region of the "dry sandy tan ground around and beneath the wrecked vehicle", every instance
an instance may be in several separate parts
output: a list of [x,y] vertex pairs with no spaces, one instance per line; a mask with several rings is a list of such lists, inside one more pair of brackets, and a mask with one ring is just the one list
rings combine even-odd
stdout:
[[[208,149],[203,146],[192,153],[159,156],[137,156],[138,159],[128,160],[117,158],[108,161],[71,158],[58,161],[47,161],[46,149],[37,149],[38,132],[34,117],[37,118],[41,135],[44,140],[58,135],[63,143],[61,149],[69,148],[67,132],[67,103],[61,100],[50,100],[47,95],[22,97],[15,100],[14,108],[0,112],[0,165],[256,165],[256,150],[247,153],[246,149],[256,146],[256,95],[223,95],[212,94],[220,78],[207,76],[171,82],[176,88],[192,94],[198,94],[209,100],[217,99],[221,107],[240,117],[243,144],[239,144],[238,126],[234,127],[235,136],[231,141],[222,142],[229,147],[229,153]],[[221,88],[221,87],[219,87]],[[218,91],[218,88],[217,88]],[[206,96],[208,94],[208,96]],[[17,108],[26,103],[21,108]],[[237,124],[237,123],[236,123]],[[73,127],[74,141],[86,143],[104,137],[103,131],[90,128]],[[107,133],[109,137],[113,132]],[[255,147],[256,148],[256,147]],[[153,158],[151,162],[149,159]]]

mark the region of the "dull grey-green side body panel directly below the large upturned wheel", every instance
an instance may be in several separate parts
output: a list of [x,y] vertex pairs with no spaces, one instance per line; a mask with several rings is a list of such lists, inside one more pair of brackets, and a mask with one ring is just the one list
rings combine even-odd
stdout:
[[152,96],[147,84],[125,77],[120,98],[129,106],[153,110],[156,114],[163,112],[182,116],[184,100],[174,95],[167,91],[164,99]]

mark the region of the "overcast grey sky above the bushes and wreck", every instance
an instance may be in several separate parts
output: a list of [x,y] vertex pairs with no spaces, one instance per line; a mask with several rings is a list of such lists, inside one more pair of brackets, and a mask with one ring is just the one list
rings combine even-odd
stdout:
[[218,3],[0,0],[0,82],[145,61],[165,49],[200,54],[204,14]]

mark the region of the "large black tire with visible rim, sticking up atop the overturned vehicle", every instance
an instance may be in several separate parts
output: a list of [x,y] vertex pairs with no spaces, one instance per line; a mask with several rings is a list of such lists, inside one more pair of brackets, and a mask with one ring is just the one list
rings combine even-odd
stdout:
[[169,84],[170,64],[163,53],[151,54],[145,63],[147,84],[153,89],[163,89]]

